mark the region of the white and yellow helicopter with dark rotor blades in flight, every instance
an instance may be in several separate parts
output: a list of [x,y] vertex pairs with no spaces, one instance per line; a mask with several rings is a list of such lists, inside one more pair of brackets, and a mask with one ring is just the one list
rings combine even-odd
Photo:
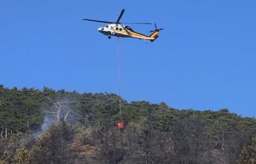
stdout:
[[153,32],[151,35],[147,36],[138,32],[133,31],[129,26],[126,26],[124,24],[152,24],[152,23],[121,23],[119,22],[121,20],[121,17],[124,14],[124,9],[122,9],[117,21],[115,22],[109,22],[109,21],[103,21],[103,20],[92,20],[92,19],[83,19],[83,20],[89,20],[94,22],[101,22],[101,23],[111,23],[107,24],[103,27],[98,28],[98,31],[102,33],[103,35],[107,35],[109,39],[111,36],[115,37],[132,37],[137,39],[143,39],[147,43],[146,40],[150,40],[153,42],[158,37],[158,33],[162,29],[157,29],[156,23],[155,23],[155,30],[150,31]]

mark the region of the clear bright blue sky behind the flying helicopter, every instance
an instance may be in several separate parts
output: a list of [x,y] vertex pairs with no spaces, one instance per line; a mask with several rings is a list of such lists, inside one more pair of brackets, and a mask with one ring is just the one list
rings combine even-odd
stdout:
[[118,93],[117,39],[82,19],[121,9],[164,28],[153,43],[121,38],[124,99],[256,115],[255,0],[0,0],[0,83]]

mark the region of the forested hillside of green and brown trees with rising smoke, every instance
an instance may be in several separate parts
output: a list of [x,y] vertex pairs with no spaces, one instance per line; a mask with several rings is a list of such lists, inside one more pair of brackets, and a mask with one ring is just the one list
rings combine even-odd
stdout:
[[0,164],[256,164],[254,118],[119,99],[0,85]]

